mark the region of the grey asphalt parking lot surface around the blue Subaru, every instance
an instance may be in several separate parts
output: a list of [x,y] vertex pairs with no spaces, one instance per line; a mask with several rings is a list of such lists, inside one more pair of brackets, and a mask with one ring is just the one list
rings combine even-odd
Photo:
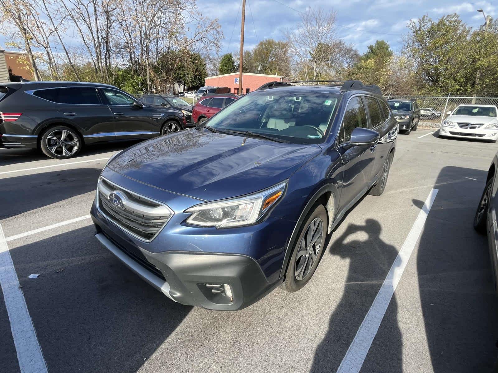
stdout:
[[[493,370],[498,302],[487,241],[472,222],[497,144],[424,129],[399,135],[384,194],[343,219],[313,279],[237,312],[174,303],[99,245],[86,216],[100,171],[126,146],[88,147],[65,161],[0,149],[0,234],[49,372]],[[403,247],[412,251],[401,263]],[[392,271],[399,282],[384,314],[373,304]],[[17,350],[32,345],[14,346],[4,284],[0,371],[18,372]],[[366,318],[372,310],[378,330]],[[26,372],[44,372],[36,362]]]

